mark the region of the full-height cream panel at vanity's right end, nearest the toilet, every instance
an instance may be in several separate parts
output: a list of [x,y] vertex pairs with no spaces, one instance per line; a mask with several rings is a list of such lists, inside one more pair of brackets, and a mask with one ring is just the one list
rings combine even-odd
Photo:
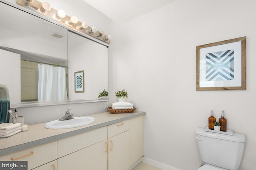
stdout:
[[130,165],[144,155],[144,116],[130,119]]

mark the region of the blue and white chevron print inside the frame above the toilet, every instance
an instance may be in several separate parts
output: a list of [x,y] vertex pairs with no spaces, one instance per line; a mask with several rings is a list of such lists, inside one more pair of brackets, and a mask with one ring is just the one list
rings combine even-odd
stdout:
[[206,81],[234,79],[234,49],[206,53]]

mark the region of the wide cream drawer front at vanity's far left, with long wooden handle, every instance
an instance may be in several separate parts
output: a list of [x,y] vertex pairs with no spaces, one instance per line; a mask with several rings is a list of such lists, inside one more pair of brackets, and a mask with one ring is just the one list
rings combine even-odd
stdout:
[[0,157],[1,161],[28,161],[28,170],[57,159],[57,141]]

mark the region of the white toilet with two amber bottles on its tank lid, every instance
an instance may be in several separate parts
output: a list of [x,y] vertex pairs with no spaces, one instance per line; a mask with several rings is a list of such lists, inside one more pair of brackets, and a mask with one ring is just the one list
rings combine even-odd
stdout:
[[238,170],[244,152],[244,134],[220,134],[197,128],[196,138],[206,163],[198,170]]

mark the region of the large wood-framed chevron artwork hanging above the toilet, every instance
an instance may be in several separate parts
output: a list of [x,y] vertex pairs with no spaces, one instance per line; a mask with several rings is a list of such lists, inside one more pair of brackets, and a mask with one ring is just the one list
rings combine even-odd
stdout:
[[246,90],[246,37],[196,46],[196,90]]

